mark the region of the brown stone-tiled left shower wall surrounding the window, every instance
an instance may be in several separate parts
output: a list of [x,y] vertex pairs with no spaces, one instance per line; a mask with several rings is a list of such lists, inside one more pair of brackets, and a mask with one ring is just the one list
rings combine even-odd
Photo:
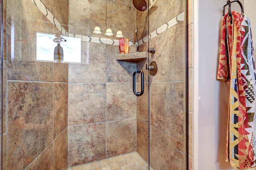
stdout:
[[[67,0],[46,6],[67,25]],[[36,33],[58,33],[39,8],[3,1],[3,169],[68,167],[68,64],[35,61]]]

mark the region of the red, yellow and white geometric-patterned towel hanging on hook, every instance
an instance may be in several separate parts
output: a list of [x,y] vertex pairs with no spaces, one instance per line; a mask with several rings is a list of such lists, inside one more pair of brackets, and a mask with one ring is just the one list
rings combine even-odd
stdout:
[[[232,23],[230,23],[232,20]],[[236,169],[256,166],[256,76],[250,21],[232,11],[223,18],[218,79],[230,81],[227,162]]]

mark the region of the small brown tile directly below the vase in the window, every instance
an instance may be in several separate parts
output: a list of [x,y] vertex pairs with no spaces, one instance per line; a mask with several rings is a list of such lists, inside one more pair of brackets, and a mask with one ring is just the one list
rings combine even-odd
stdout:
[[54,63],[54,82],[68,82],[67,63]]

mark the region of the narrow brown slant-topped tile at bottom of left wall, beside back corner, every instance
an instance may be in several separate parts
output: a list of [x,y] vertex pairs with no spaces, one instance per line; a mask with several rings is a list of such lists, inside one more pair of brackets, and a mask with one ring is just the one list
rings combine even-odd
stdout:
[[54,170],[68,168],[68,128],[53,141]]

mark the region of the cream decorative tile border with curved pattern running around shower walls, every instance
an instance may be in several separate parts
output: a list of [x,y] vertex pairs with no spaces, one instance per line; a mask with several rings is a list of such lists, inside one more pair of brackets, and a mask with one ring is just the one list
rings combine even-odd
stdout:
[[[110,44],[110,45],[119,45],[119,40],[118,39],[109,39],[109,38],[102,38],[102,37],[93,37],[89,35],[79,35],[79,34],[69,34],[66,29],[60,24],[60,22],[53,16],[53,14],[44,6],[44,4],[41,2],[41,0],[31,0],[31,2],[37,6],[37,8],[50,20],[59,30],[60,32],[63,33],[64,36],[67,37],[75,37],[75,38],[80,38],[81,41],[84,42],[91,42],[91,43],[103,43],[103,44]],[[184,12],[180,13],[178,16],[172,18],[170,21],[164,23],[162,26],[157,28],[156,30],[152,31],[149,35],[146,37],[140,39],[137,42],[137,45],[140,46],[143,43],[146,43],[148,41],[148,36],[149,39],[152,39],[159,35],[160,33],[166,31],[167,29],[170,29],[174,25],[180,23],[181,21],[184,20]],[[132,45],[132,42],[129,42],[129,46]]]

